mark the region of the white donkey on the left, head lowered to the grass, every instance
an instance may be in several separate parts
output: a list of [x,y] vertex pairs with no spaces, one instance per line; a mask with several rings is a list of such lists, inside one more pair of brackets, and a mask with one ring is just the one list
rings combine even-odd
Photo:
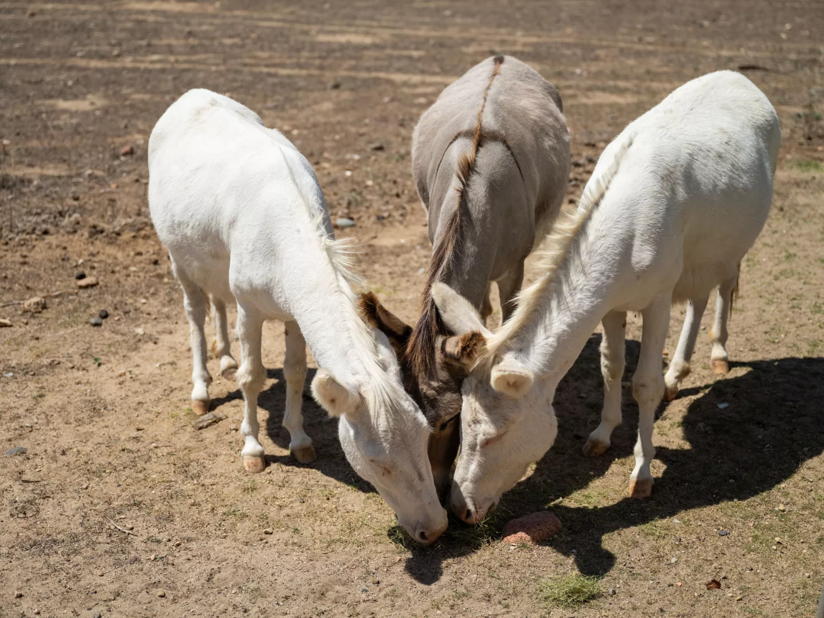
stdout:
[[[313,461],[301,401],[306,344],[321,367],[316,400],[339,417],[349,463],[375,485],[414,538],[428,544],[447,526],[427,459],[429,429],[400,382],[386,336],[358,316],[348,255],[335,241],[321,188],[292,143],[243,105],[206,90],[173,103],[149,139],[149,206],[184,292],[194,360],[194,410],[208,409],[204,294],[213,298],[221,369],[232,369],[226,302],[237,302],[246,402],[241,453],[265,468],[257,397],[265,320],[285,323],[283,425],[299,461]],[[304,339],[305,338],[305,339]]]

